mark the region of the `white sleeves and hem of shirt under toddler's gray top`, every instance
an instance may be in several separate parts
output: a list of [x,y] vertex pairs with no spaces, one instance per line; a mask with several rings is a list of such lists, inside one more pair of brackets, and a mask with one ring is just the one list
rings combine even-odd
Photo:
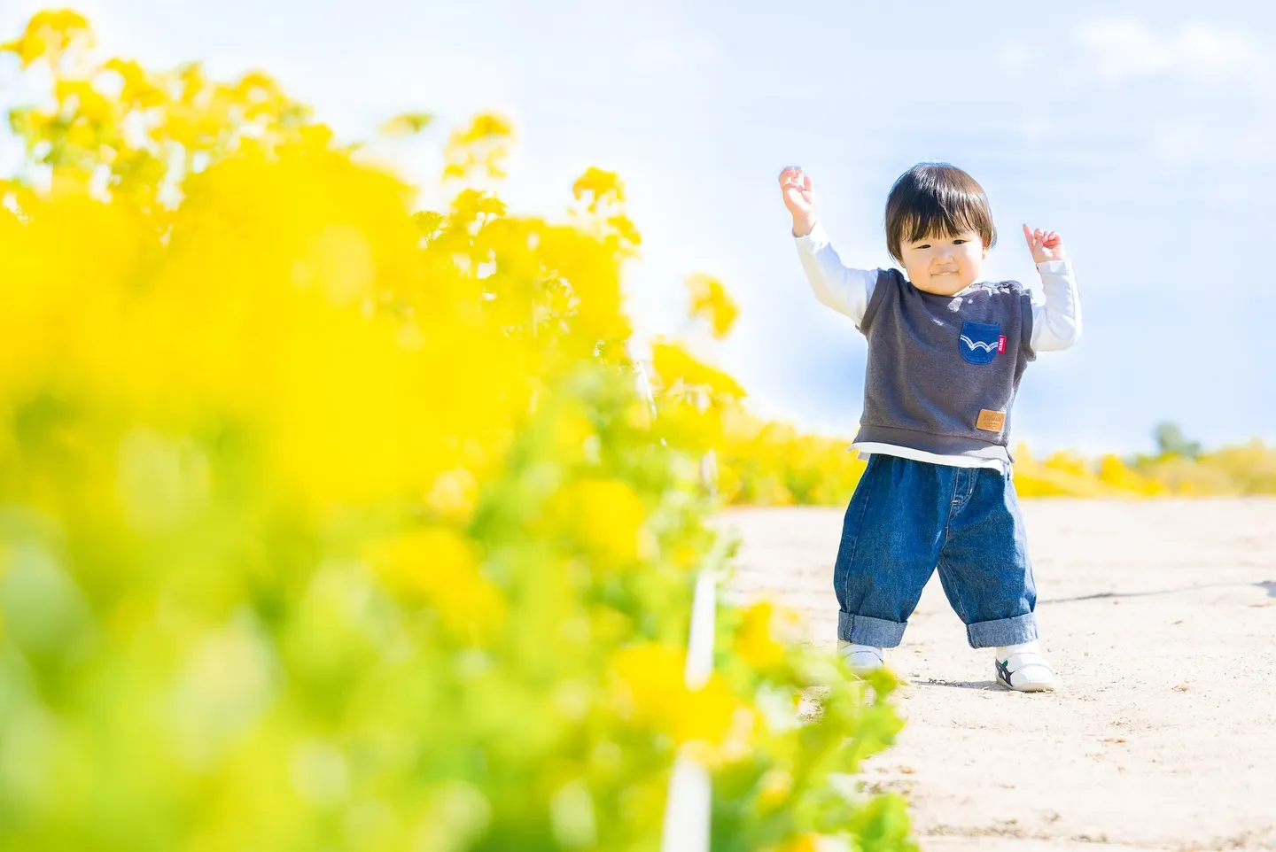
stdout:
[[[815,222],[812,232],[796,237],[798,256],[810,282],[815,298],[840,314],[850,316],[859,328],[868,310],[873,287],[877,283],[875,269],[851,269],[837,256],[828,241],[823,224]],[[1032,339],[1034,352],[1067,349],[1081,337],[1081,301],[1077,297],[1076,277],[1072,264],[1067,260],[1039,263],[1042,293],[1032,295]],[[968,288],[967,288],[968,290]],[[953,293],[960,296],[965,290]],[[894,444],[856,443],[850,449],[861,458],[873,453],[897,455],[900,458],[930,462],[931,464],[951,464],[953,467],[990,467],[1009,473],[1009,466],[998,459],[977,459],[966,455],[939,455],[916,450],[911,446]]]

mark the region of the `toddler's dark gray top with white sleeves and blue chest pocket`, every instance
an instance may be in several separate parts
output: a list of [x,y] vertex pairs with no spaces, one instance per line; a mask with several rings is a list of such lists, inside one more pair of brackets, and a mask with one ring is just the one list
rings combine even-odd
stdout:
[[[869,338],[864,416],[851,446],[861,455],[1008,468],[1011,403],[1027,361],[1037,352],[1065,349],[1081,337],[1071,264],[1036,265],[1040,302],[1028,301],[1027,288],[1017,282],[976,283],[956,296],[934,296],[912,287],[898,270],[846,267],[819,222],[796,245],[819,301],[850,316]],[[962,341],[967,321],[970,333]],[[1004,351],[998,351],[1003,335]],[[998,423],[1000,413],[1005,420]]]

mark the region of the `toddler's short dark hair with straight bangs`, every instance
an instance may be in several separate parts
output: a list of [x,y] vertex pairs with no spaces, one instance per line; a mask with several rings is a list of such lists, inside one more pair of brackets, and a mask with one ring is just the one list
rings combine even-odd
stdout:
[[919,163],[894,182],[886,204],[887,247],[902,263],[903,242],[977,233],[985,247],[997,227],[984,187],[948,163]]

